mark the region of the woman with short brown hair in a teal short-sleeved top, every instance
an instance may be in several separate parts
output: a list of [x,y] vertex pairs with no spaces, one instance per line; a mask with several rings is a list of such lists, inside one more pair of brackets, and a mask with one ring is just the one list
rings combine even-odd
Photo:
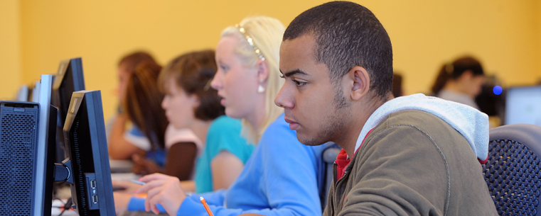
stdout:
[[[240,120],[223,115],[220,96],[210,88],[217,67],[214,57],[213,50],[189,52],[171,60],[159,76],[158,84],[165,92],[161,106],[167,119],[175,128],[191,129],[200,140],[168,148],[168,158],[187,152],[199,155],[194,181],[182,181],[183,191],[193,191],[195,187],[195,191],[205,193],[229,188],[255,147],[240,136]],[[175,176],[169,177],[180,182]],[[124,187],[130,187],[127,192],[131,192],[133,187],[128,185]],[[117,212],[126,210],[129,200],[136,199],[133,196],[132,193],[114,193]],[[128,210],[141,209],[135,206]]]

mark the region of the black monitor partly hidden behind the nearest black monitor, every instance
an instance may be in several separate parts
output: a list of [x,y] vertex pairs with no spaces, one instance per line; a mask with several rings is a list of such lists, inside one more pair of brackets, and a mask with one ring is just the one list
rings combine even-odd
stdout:
[[75,91],[85,90],[85,78],[82,74],[81,58],[65,59],[60,62],[58,72],[54,76],[53,100],[51,103],[58,108],[57,121],[57,150],[55,162],[60,163],[65,158],[63,131],[65,117],[70,106],[71,95]]

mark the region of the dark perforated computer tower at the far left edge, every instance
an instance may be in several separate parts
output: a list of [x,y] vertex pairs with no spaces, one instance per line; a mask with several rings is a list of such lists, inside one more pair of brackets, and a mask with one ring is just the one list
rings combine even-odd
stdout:
[[0,104],[0,215],[31,215],[38,120],[38,103]]

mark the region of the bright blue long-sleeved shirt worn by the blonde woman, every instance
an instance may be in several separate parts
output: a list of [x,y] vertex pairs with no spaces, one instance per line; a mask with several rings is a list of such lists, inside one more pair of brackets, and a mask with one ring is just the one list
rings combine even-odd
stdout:
[[[225,193],[225,204],[210,205],[216,216],[321,215],[318,168],[322,147],[296,139],[283,115],[264,132],[252,158]],[[282,123],[283,122],[283,123]],[[177,215],[206,215],[198,200],[185,200]]]

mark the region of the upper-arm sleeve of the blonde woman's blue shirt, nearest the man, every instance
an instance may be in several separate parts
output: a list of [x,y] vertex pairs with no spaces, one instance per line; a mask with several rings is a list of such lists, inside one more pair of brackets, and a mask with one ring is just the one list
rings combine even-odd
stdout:
[[264,190],[272,210],[262,215],[321,215],[318,167],[321,146],[309,147],[297,140],[296,133],[282,118],[278,127],[269,127],[262,137]]

